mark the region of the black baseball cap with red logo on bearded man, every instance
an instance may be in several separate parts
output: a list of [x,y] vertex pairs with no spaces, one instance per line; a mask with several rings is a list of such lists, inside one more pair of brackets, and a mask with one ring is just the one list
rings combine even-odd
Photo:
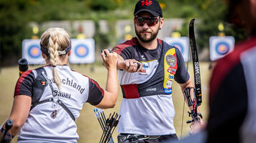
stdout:
[[141,11],[150,12],[153,16],[163,17],[162,9],[156,0],[140,0],[137,2],[134,9],[134,16],[139,14]]

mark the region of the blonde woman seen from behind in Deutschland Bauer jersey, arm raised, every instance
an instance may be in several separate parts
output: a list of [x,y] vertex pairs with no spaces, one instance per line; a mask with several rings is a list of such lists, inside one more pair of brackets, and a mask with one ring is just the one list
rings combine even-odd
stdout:
[[[106,90],[70,69],[71,43],[64,29],[47,29],[40,41],[47,66],[25,71],[19,77],[9,119],[13,127],[6,139],[18,142],[77,142],[76,119],[86,102],[101,109],[114,107],[117,99],[116,54],[101,54],[108,69]],[[111,86],[110,86],[111,85]],[[5,122],[4,122],[5,124]],[[2,124],[0,137],[5,132]]]

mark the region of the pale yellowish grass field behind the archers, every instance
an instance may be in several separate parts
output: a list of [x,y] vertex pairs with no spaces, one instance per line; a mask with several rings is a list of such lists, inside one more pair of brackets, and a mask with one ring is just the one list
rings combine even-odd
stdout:
[[[210,77],[210,71],[208,69],[209,63],[201,63],[201,84],[203,92],[203,104],[201,104],[201,113],[204,115],[204,121],[208,114],[208,82]],[[29,66],[29,69],[34,69],[36,66]],[[95,79],[101,87],[105,88],[106,86],[106,69],[104,66],[96,65],[94,66],[94,71],[91,71],[91,65],[71,65],[71,68],[85,74],[91,79]],[[192,64],[189,64],[188,71],[193,75]],[[6,67],[1,69],[0,73],[0,124],[5,121],[9,116],[9,113],[12,109],[12,101],[14,94],[14,87],[19,77],[18,67]],[[193,79],[193,76],[191,76]],[[119,98],[114,109],[105,109],[104,112],[108,116],[111,112],[119,112],[119,107],[122,101],[121,89],[119,88]],[[181,124],[182,124],[182,115],[183,115],[183,95],[180,91],[180,87],[176,82],[173,85],[173,102],[175,104],[175,129],[180,137]],[[78,125],[78,142],[99,142],[102,131],[96,117],[93,114],[93,106],[91,104],[84,104],[83,109],[81,110],[81,116],[78,118],[76,124]],[[189,124],[186,124],[186,121],[190,119],[187,114],[188,107],[185,105],[184,111],[184,120],[183,120],[183,137],[188,135],[190,132]],[[114,142],[116,142],[116,130],[113,134]],[[17,142],[17,137],[14,138],[14,142]]]

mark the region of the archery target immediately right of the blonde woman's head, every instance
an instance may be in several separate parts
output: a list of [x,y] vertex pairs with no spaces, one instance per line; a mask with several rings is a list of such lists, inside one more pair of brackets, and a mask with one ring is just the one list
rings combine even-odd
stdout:
[[71,39],[70,64],[90,64],[95,61],[93,39]]

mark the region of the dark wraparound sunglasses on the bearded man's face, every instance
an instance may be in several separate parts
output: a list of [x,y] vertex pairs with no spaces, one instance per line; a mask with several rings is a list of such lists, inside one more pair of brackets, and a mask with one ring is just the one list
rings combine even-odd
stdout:
[[158,21],[160,21],[161,18],[157,19],[157,17],[135,17],[134,19],[138,26],[143,26],[145,23],[147,26],[154,26]]

